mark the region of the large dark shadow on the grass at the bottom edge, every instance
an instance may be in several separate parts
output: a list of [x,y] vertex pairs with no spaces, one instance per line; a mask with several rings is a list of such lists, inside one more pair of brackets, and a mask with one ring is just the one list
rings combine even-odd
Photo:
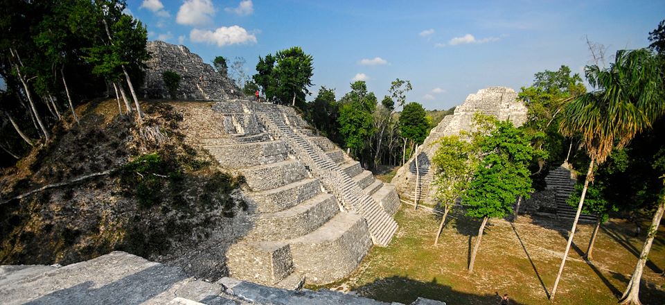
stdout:
[[[451,286],[439,284],[436,278],[429,282],[416,281],[408,277],[393,276],[375,279],[356,289],[358,295],[370,297],[382,302],[400,302],[411,304],[418,297],[436,299],[447,304],[497,304],[500,297],[494,291],[483,295],[474,295],[454,290]],[[504,292],[499,292],[503,295]],[[511,297],[508,292],[508,297]],[[519,305],[511,299],[511,304]]]

